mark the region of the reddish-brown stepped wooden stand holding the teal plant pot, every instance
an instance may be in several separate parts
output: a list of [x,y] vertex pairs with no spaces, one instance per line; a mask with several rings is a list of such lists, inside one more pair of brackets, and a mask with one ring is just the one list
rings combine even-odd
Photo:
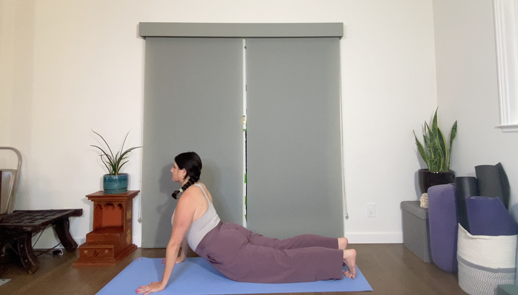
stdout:
[[115,265],[136,250],[131,237],[133,197],[138,192],[105,195],[99,191],[87,195],[94,202],[94,230],[87,233],[87,243],[79,246],[74,266]]

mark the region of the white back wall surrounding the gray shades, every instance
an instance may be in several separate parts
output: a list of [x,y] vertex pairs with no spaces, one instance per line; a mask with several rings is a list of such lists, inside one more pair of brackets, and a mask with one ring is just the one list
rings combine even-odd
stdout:
[[[0,145],[24,157],[16,209],[83,208],[71,231],[84,242],[92,229],[84,195],[101,189],[104,174],[90,129],[114,145],[131,129],[128,144],[141,143],[139,22],[344,23],[346,233],[351,243],[402,241],[399,202],[418,198],[412,129],[436,108],[429,0],[0,0]],[[125,171],[138,189],[140,151],[132,160]],[[375,218],[366,217],[369,202]],[[47,231],[36,248],[54,244]]]

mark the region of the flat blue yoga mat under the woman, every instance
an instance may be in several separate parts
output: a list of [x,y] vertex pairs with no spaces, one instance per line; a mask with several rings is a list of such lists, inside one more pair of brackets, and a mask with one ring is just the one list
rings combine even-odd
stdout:
[[[162,258],[137,258],[117,274],[97,295],[135,294],[140,285],[162,279]],[[346,267],[344,267],[346,270]],[[154,294],[264,294],[302,292],[373,291],[356,267],[356,279],[327,280],[290,284],[255,284],[236,282],[225,277],[203,258],[187,258],[175,265],[167,288]]]

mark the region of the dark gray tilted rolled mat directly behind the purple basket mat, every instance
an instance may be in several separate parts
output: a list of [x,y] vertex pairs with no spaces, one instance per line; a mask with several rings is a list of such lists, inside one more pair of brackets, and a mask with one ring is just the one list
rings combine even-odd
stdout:
[[475,166],[480,196],[498,197],[509,208],[509,180],[501,163]]

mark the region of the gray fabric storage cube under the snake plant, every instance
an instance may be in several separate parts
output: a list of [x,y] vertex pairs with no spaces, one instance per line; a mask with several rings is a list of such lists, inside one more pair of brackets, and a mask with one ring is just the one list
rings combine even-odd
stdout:
[[401,202],[403,244],[424,262],[431,262],[428,209],[419,204],[419,201]]

